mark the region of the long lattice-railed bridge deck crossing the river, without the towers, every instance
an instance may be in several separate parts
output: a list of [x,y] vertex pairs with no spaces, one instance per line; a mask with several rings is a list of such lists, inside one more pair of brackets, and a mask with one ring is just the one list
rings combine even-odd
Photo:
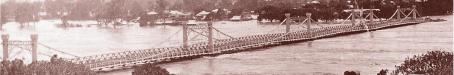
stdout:
[[283,43],[315,40],[341,34],[372,31],[386,27],[404,26],[422,22],[426,22],[426,20],[418,18],[414,20],[375,21],[366,23],[367,26],[351,24],[338,25],[323,28],[314,28],[310,31],[300,30],[289,33],[270,33],[232,39],[220,39],[214,42],[214,50],[209,50],[207,43],[200,43],[189,45],[189,47],[186,49],[184,49],[183,47],[169,47],[131,50],[118,53],[74,58],[70,59],[69,61],[87,65],[87,67],[97,72],[112,71],[131,68],[132,66],[145,63],[159,63],[172,61],[175,59],[187,59],[191,57],[238,52],[253,48],[279,45]]

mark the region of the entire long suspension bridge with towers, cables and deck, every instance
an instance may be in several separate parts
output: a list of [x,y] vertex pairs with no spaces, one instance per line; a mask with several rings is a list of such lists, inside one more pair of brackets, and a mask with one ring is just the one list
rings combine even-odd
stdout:
[[[428,20],[422,18],[421,15],[419,15],[416,10],[416,6],[413,6],[411,10],[402,9],[403,8],[398,7],[394,14],[385,20],[378,18],[374,14],[376,10],[349,10],[348,12],[351,12],[351,14],[348,18],[345,19],[344,22],[342,22],[341,24],[329,26],[319,25],[317,22],[311,19],[311,13],[306,13],[306,19],[299,23],[292,21],[290,14],[285,14],[287,19],[280,23],[280,26],[285,26],[285,32],[248,35],[241,37],[234,37],[228,35],[228,33],[224,33],[221,30],[214,28],[212,22],[194,26],[183,25],[183,44],[181,46],[138,49],[84,57],[72,55],[74,56],[74,58],[65,60],[77,64],[86,65],[93,71],[113,71],[124,68],[131,68],[132,66],[146,63],[161,63],[201,56],[240,52],[287,43],[316,40],[343,34],[368,32],[388,27],[398,27],[428,22]],[[408,13],[405,13],[404,11]],[[291,26],[299,26],[303,27],[303,29],[296,29],[296,27]],[[195,34],[192,35],[192,38],[190,38],[191,36],[189,35],[191,33]],[[227,38],[217,38],[214,36],[214,33],[219,33],[223,37]],[[205,38],[206,40],[203,42],[190,43],[191,39],[197,38],[199,36],[203,36],[203,38]],[[2,38],[4,47],[3,57],[4,59],[6,59],[8,58],[8,45],[18,43],[8,41],[7,36],[2,36]],[[37,36],[32,36],[32,41],[23,42],[24,44],[31,44],[32,48],[30,51],[32,52],[32,56],[34,57],[33,61],[36,61],[36,46],[40,45],[36,42],[36,39]],[[41,44],[41,46],[46,46],[46,48],[48,49],[71,55],[69,53],[65,53],[64,51],[53,49],[52,47],[49,47],[47,45]]]

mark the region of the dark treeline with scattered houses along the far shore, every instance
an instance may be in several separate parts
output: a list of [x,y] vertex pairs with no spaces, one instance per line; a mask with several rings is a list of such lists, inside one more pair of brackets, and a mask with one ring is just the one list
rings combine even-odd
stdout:
[[[7,21],[27,23],[39,19],[122,20],[133,21],[138,17],[158,15],[154,18],[168,18],[170,11],[189,13],[218,13],[216,19],[226,19],[245,12],[259,14],[261,19],[282,20],[283,13],[304,16],[314,13],[316,20],[343,19],[348,16],[345,9],[358,5],[364,9],[380,9],[379,17],[389,17],[396,6],[408,8],[417,5],[423,15],[445,15],[452,13],[453,0],[43,0],[23,2],[7,0],[1,4],[1,24]],[[227,12],[228,13],[225,13]],[[251,12],[254,11],[254,12]]]

